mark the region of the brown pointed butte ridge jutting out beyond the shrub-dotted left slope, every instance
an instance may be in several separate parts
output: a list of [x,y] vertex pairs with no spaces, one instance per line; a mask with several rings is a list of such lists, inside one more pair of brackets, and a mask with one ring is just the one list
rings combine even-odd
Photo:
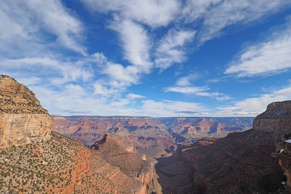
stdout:
[[[106,133],[102,140],[97,141],[91,147],[93,156],[100,157],[102,160],[120,169],[120,171],[115,172],[111,178],[118,177],[119,173],[122,172],[129,178],[139,180],[140,183],[146,185],[146,187],[144,187],[144,184],[139,184],[140,187],[138,188],[140,188],[140,190],[146,188],[146,192],[149,194],[162,194],[162,188],[158,182],[159,177],[152,163],[146,161],[142,154],[124,150],[115,140],[116,138],[112,138]],[[133,189],[126,187],[126,185],[123,185],[123,187],[124,191]]]

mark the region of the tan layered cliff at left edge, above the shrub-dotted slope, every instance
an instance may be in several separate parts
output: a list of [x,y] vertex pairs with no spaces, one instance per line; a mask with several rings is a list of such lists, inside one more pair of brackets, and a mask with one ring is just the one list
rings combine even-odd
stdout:
[[48,140],[53,125],[32,91],[0,76],[0,148]]

